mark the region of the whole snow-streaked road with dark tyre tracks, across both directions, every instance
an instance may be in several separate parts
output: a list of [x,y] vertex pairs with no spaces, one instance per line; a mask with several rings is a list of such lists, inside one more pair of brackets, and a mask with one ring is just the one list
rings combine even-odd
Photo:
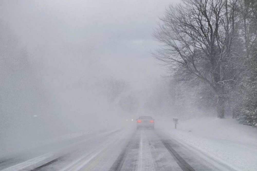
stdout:
[[[120,129],[79,137],[0,161],[4,171],[233,170],[161,130]],[[48,151],[45,153],[45,151]]]

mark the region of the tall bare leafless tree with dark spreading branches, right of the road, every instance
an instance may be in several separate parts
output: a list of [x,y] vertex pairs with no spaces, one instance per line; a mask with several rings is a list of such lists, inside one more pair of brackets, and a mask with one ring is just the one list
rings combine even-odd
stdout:
[[[233,83],[244,68],[228,72],[237,56],[237,0],[183,0],[169,6],[154,32],[162,43],[154,56],[174,72],[192,74],[216,92],[217,112],[224,118],[225,85]],[[229,74],[228,74],[229,73]]]

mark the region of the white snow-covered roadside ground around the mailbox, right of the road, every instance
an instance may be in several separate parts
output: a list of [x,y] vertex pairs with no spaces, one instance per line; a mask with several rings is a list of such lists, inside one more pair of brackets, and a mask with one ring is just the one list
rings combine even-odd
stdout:
[[163,124],[165,134],[236,170],[257,169],[257,129],[234,119],[203,117]]

